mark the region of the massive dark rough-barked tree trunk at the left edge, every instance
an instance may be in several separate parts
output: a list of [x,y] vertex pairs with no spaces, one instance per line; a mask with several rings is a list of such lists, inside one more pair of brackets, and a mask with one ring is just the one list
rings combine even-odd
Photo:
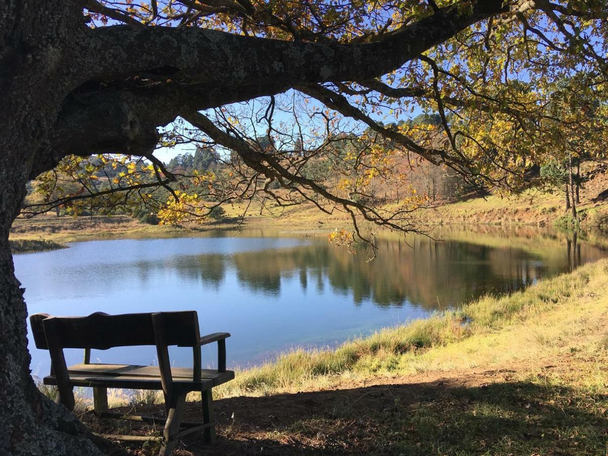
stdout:
[[[70,0],[8,0],[0,14],[0,454],[97,455],[111,448],[65,407],[44,397],[30,375],[27,308],[15,277],[9,230],[26,195],[36,154],[71,89],[65,47],[81,13]],[[28,13],[28,17],[24,16]],[[36,14],[37,13],[37,14]],[[37,17],[36,17],[37,16]],[[69,34],[69,36],[68,36]],[[68,40],[67,38],[72,38]],[[77,71],[77,69],[75,69]],[[73,71],[73,70],[72,70]],[[95,440],[97,443],[93,443]]]

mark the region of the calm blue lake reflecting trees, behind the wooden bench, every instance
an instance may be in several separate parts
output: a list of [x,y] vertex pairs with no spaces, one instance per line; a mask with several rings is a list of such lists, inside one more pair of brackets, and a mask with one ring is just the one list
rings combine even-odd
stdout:
[[[198,311],[201,334],[226,331],[229,365],[260,364],[294,347],[334,347],[385,326],[513,292],[539,278],[606,256],[572,235],[544,230],[478,229],[380,238],[368,262],[326,237],[206,233],[192,237],[72,243],[15,255],[29,313],[84,316]],[[49,370],[30,338],[32,371]],[[215,364],[215,344],[203,350]],[[172,348],[175,365],[192,351]],[[68,364],[80,350],[66,350]],[[155,364],[154,347],[94,350],[92,360]]]

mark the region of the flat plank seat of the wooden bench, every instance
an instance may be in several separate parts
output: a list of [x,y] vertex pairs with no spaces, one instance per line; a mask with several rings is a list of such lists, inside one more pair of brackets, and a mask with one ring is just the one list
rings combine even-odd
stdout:
[[[74,364],[67,368],[67,373],[69,373],[70,377],[72,377],[73,374],[92,374],[97,376],[112,375],[161,378],[161,371],[157,366],[140,366],[129,364]],[[176,381],[192,381],[192,368],[171,367],[171,376],[173,376]],[[218,372],[212,369],[201,369],[201,379],[212,380],[213,386],[221,385],[232,380],[233,378],[234,372],[232,370]]]

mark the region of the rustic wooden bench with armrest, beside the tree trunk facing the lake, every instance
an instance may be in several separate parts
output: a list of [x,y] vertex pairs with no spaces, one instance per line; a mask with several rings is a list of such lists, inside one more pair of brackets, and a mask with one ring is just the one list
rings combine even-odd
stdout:
[[[92,387],[94,413],[103,418],[120,418],[149,423],[165,423],[161,455],[173,451],[176,440],[192,432],[204,432],[204,440],[215,438],[212,388],[234,378],[226,370],[226,337],[215,333],[201,337],[195,311],[108,315],[97,312],[88,317],[30,317],[37,348],[49,350],[50,375],[45,385],[57,385],[57,402],[74,409],[74,386]],[[217,370],[201,369],[201,345],[218,343]],[[158,366],[91,363],[91,349],[155,345]],[[168,347],[192,347],[193,368],[171,367]],[[84,348],[82,364],[66,366],[64,348]],[[167,418],[123,415],[108,410],[108,388],[162,390]],[[182,422],[187,393],[202,395],[201,423]],[[184,428],[184,429],[182,429]],[[150,440],[149,437],[105,435],[117,440]]]

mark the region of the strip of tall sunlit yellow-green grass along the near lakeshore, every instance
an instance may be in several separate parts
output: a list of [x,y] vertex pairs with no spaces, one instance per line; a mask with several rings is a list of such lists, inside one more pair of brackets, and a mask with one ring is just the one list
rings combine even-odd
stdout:
[[[537,318],[542,314],[575,312],[583,299],[608,309],[606,297],[597,294],[607,285],[608,261],[601,260],[571,274],[543,280],[512,295],[483,297],[461,309],[352,340],[336,350],[299,350],[284,354],[275,362],[241,371],[235,381],[222,385],[216,392],[219,396],[295,392],[312,385],[333,387],[345,378],[365,378],[379,373],[389,375],[430,368],[471,367],[483,361],[473,361],[474,352],[477,358],[485,354],[499,359],[504,358],[504,353],[523,350],[525,346],[527,351],[536,347],[538,353],[543,353],[544,336],[533,344],[527,340],[522,347],[518,347],[520,344],[516,339],[512,340],[513,346],[503,347],[501,353],[494,353],[494,349],[488,353],[485,347],[489,339],[494,339],[489,345],[495,345],[500,331],[510,331],[514,325],[523,325],[523,332],[526,325],[538,329]],[[559,318],[552,322],[556,326],[549,331],[556,335],[566,329],[561,326],[565,322]],[[458,354],[460,349],[462,353],[468,353],[469,358]],[[446,361],[440,363],[440,358]]]

